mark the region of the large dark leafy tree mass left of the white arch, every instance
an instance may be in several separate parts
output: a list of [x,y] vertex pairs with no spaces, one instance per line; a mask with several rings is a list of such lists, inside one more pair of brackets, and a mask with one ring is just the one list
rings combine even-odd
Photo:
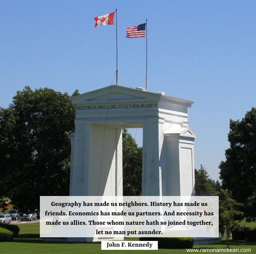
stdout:
[[0,196],[10,197],[20,209],[34,210],[40,195],[67,195],[68,135],[74,130],[68,94],[26,86],[0,116]]

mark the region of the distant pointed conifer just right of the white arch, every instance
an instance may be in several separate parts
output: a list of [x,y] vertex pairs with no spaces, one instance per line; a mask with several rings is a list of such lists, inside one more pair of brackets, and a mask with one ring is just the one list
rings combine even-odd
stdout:
[[195,169],[195,190],[196,195],[216,193],[215,181],[211,180],[205,166],[200,165],[199,169]]

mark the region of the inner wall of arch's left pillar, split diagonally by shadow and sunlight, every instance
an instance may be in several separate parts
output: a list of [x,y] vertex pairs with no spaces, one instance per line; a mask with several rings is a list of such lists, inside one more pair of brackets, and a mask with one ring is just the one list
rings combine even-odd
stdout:
[[123,195],[122,129],[90,124],[88,195]]

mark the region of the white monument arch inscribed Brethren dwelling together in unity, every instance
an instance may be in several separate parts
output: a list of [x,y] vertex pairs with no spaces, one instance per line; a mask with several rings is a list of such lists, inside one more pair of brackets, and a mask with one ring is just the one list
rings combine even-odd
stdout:
[[70,195],[122,195],[122,128],[143,128],[142,195],[193,195],[193,101],[108,86],[71,97]]

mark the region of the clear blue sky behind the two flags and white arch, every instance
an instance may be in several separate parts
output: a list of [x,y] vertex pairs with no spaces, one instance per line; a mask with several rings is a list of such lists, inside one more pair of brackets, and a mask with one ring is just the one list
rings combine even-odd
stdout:
[[[118,8],[120,84],[144,86],[145,38],[125,28],[148,18],[148,90],[195,101],[196,167],[212,179],[228,148],[229,119],[256,102],[255,1],[0,0],[0,106],[17,90],[49,87],[72,94],[112,84],[115,26],[95,16]],[[141,144],[141,130],[133,134]]]

